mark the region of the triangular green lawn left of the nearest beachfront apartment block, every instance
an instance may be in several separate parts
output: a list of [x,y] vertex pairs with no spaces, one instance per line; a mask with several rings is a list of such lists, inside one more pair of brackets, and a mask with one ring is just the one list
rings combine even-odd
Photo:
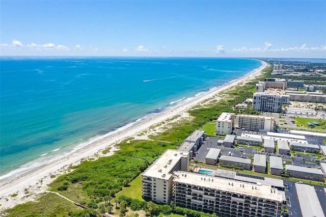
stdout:
[[123,187],[122,191],[116,194],[116,197],[118,198],[119,196],[124,195],[133,199],[144,201],[144,199],[142,198],[142,185],[142,174],[139,174],[139,176],[137,176],[134,180],[129,183],[128,187]]

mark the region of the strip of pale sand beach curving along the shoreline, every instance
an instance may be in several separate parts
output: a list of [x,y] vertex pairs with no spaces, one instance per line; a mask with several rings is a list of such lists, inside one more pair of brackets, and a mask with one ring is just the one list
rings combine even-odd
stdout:
[[[101,150],[107,147],[112,147],[112,149],[110,150],[110,153],[106,154],[106,156],[112,155],[114,150],[117,150],[117,148],[114,146],[115,144],[118,144],[122,140],[129,137],[135,137],[138,139],[140,137],[137,136],[137,134],[141,133],[145,129],[148,129],[149,127],[159,122],[171,119],[176,115],[186,117],[185,114],[187,114],[186,111],[188,111],[189,108],[193,107],[194,105],[197,105],[198,103],[204,100],[211,99],[213,97],[218,98],[219,93],[224,90],[228,90],[233,86],[239,86],[249,82],[251,79],[259,75],[262,69],[264,69],[266,66],[267,63],[263,62],[262,67],[253,71],[250,74],[247,74],[233,81],[232,83],[224,85],[220,88],[213,89],[198,98],[194,98],[191,101],[187,101],[183,105],[173,108],[173,110],[171,111],[165,112],[164,114],[160,114],[139,125],[135,125],[131,128],[125,129],[116,135],[111,135],[107,138],[101,139],[100,141],[96,141],[81,150],[71,153],[68,156],[62,157],[56,161],[50,162],[49,164],[43,167],[40,167],[28,174],[22,175],[19,178],[16,178],[8,183],[1,185],[0,209],[13,207],[16,204],[34,200],[39,193],[45,192],[47,190],[47,184],[55,179],[50,178],[51,175],[58,176],[65,173],[69,165],[79,164],[81,159],[94,157],[95,155],[102,155]],[[11,195],[15,193],[18,195],[16,197],[11,197]],[[28,195],[29,197],[26,197]]]

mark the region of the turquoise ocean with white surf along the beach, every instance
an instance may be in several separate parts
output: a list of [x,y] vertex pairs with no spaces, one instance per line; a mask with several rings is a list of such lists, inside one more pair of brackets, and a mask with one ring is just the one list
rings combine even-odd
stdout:
[[1,59],[0,182],[259,68],[253,59]]

